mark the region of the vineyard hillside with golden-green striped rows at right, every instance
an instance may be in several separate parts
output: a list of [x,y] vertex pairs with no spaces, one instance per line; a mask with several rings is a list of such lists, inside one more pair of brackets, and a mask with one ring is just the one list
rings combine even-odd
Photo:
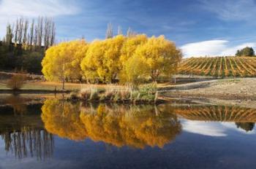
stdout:
[[189,58],[181,62],[178,74],[215,77],[255,77],[256,57]]

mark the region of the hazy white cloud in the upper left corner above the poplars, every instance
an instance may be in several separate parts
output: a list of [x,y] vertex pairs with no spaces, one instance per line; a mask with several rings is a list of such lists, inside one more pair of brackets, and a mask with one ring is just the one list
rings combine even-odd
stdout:
[[58,17],[75,15],[79,12],[74,1],[61,0],[1,0],[0,1],[0,37],[4,36],[7,23],[17,17],[29,19],[38,16]]

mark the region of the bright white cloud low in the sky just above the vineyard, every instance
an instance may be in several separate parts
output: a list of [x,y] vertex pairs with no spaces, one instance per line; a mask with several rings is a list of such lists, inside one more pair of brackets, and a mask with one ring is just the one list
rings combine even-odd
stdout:
[[209,40],[184,44],[181,50],[185,58],[201,56],[228,56],[235,55],[237,50],[244,47],[256,47],[256,43],[244,43],[231,46],[227,40]]

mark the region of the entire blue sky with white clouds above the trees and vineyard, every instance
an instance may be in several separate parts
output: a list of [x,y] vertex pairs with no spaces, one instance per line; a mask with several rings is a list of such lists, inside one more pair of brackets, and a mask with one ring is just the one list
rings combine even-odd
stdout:
[[108,23],[165,35],[184,55],[234,55],[256,47],[255,0],[0,0],[0,37],[18,16],[54,17],[59,39],[104,39]]

